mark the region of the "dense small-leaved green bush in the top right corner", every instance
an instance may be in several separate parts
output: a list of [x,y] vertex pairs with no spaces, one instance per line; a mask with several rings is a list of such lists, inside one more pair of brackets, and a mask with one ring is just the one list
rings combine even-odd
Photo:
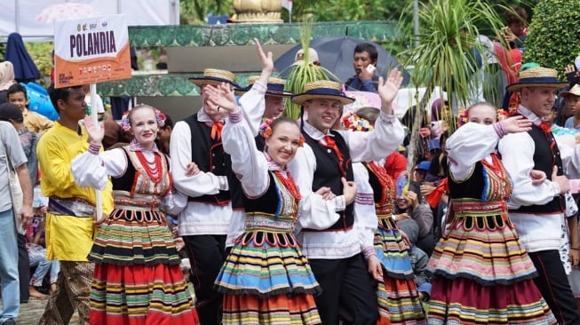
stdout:
[[544,0],[536,5],[529,25],[524,62],[552,67],[564,75],[564,68],[580,54],[580,2]]

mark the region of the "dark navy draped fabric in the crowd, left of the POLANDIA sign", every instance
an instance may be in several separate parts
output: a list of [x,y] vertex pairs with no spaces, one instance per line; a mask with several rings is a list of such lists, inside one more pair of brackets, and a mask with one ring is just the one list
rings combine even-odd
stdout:
[[22,43],[22,36],[12,33],[8,36],[4,60],[11,61],[14,66],[14,78],[20,83],[27,83],[40,79],[40,72],[35,62]]

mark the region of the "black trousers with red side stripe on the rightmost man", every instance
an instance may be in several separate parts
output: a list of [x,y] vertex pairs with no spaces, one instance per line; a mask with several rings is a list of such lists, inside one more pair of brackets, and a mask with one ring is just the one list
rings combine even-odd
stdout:
[[558,250],[528,253],[539,276],[534,279],[537,289],[560,325],[580,324],[576,299],[570,289]]

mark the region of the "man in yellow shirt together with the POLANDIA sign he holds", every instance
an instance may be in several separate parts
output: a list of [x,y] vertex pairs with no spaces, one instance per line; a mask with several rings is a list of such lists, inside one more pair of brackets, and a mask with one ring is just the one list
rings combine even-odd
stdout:
[[[54,24],[54,87],[49,89],[59,120],[36,149],[41,188],[49,197],[46,214],[46,255],[60,261],[58,289],[39,324],[68,323],[75,309],[79,323],[89,323],[89,296],[94,264],[87,260],[94,223],[113,210],[112,186],[101,193],[75,184],[70,164],[89,147],[79,121],[87,104],[82,84],[131,78],[129,33],[123,15],[56,21]],[[94,106],[94,105],[93,105]],[[92,112],[96,121],[97,111]],[[102,197],[102,203],[101,203]]]

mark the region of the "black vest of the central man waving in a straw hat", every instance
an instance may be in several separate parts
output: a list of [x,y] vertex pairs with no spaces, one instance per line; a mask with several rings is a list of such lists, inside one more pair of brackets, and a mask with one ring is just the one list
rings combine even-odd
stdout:
[[[337,131],[330,131],[334,134],[334,140],[338,150],[342,153],[344,161],[342,170],[346,172],[346,180],[354,180],[353,163],[351,163],[350,153],[346,146],[345,139]],[[312,191],[315,192],[322,186],[330,187],[332,193],[341,195],[343,186],[340,178],[343,176],[338,168],[338,156],[330,147],[322,146],[319,141],[312,139],[306,131],[302,131],[306,143],[312,147],[314,157],[316,158],[316,170],[314,170],[314,179],[312,182]],[[354,204],[346,205],[346,209],[339,213],[338,221],[322,231],[339,231],[350,229],[354,225]],[[305,231],[316,231],[314,229],[304,229]]]

